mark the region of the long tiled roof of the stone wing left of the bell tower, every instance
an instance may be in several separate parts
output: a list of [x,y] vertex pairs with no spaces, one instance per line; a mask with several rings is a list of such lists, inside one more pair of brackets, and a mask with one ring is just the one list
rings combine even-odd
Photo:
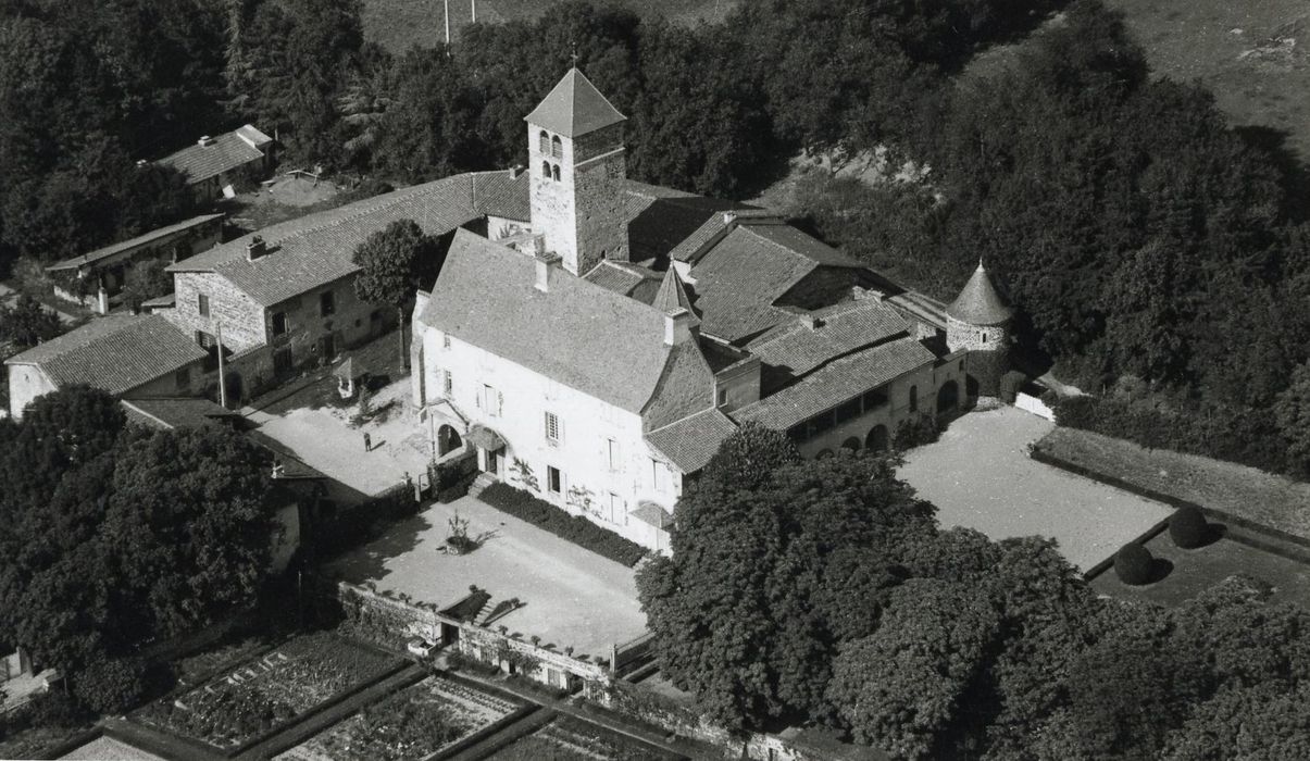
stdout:
[[[339,208],[272,225],[183,259],[170,272],[216,272],[263,306],[272,306],[341,278],[359,267],[355,248],[400,219],[413,219],[428,234],[444,234],[485,212],[473,206],[473,174],[457,174],[406,187]],[[506,173],[506,179],[508,174]],[[498,193],[527,194],[525,182],[479,181],[479,206],[498,207]],[[517,203],[512,198],[504,204]],[[246,259],[246,244],[258,234],[269,253]]]

